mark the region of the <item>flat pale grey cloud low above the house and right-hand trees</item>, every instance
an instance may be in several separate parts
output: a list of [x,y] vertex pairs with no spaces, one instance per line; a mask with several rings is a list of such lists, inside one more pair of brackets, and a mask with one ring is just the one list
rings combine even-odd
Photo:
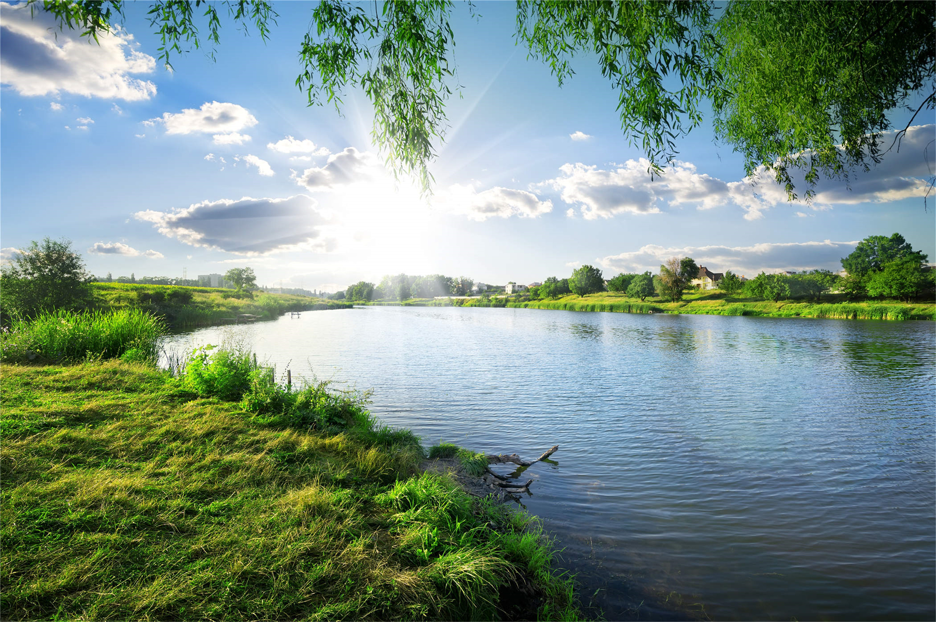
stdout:
[[608,255],[596,261],[612,272],[659,272],[660,265],[670,257],[692,257],[699,266],[714,272],[732,270],[752,277],[763,271],[808,270],[826,268],[841,270],[841,257],[855,250],[857,241],[762,243],[752,246],[684,246],[665,247],[648,244],[637,251]]

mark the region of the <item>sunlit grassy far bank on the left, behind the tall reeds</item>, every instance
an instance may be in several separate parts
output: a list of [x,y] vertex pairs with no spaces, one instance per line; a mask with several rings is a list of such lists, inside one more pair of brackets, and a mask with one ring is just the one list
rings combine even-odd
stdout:
[[99,309],[140,309],[164,317],[173,326],[221,324],[242,313],[271,320],[289,311],[347,309],[340,300],[252,292],[239,296],[234,290],[135,283],[92,283],[94,304]]

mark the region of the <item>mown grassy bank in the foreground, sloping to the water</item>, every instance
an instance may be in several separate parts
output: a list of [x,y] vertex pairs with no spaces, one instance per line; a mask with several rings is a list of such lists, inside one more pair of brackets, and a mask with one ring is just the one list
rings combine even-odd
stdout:
[[207,369],[0,369],[4,619],[578,616],[537,521],[420,472],[409,432],[262,369],[199,397]]

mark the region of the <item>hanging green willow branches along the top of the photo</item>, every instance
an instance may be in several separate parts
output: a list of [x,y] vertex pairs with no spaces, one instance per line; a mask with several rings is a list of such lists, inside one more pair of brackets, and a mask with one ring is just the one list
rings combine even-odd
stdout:
[[[119,0],[41,4],[62,27],[95,38],[124,10]],[[276,13],[269,2],[159,0],[149,14],[160,58],[168,65],[171,54],[203,41],[213,53],[219,7],[244,29],[270,36]],[[388,165],[415,173],[427,190],[428,166],[445,138],[446,101],[458,90],[453,7],[448,0],[322,0],[300,44],[296,84],[308,103],[340,111],[343,94],[361,88]],[[882,132],[892,127],[888,111],[908,108],[912,123],[934,107],[934,19],[936,3],[911,0],[519,0],[515,36],[560,85],[572,77],[575,55],[592,56],[649,172],[673,160],[677,140],[710,105],[716,136],[744,156],[748,172],[765,166],[793,197],[792,169],[805,169],[809,195],[820,175],[877,162]],[[915,110],[908,106],[914,98],[922,98]]]

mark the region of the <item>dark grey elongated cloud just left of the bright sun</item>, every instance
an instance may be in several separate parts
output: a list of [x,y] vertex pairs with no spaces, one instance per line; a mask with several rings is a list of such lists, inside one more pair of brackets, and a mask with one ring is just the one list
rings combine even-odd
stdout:
[[191,246],[246,256],[296,249],[329,251],[325,219],[306,195],[288,198],[221,199],[196,203],[169,212],[145,210],[134,214],[152,223],[159,233]]

